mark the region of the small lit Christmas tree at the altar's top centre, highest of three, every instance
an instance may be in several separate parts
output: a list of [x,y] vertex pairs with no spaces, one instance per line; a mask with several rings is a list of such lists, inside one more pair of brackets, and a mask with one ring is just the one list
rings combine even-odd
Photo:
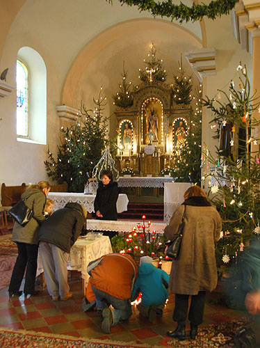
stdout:
[[165,82],[167,74],[166,70],[163,68],[163,59],[156,58],[156,49],[154,44],[152,44],[151,49],[148,53],[147,61],[144,59],[146,65],[145,69],[139,69],[139,78],[146,84],[153,84],[158,81]]

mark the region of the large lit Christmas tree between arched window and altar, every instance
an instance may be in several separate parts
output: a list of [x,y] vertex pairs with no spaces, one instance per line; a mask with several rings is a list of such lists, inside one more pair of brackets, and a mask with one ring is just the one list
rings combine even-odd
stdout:
[[67,182],[68,190],[83,192],[88,177],[99,161],[106,146],[111,143],[106,139],[108,116],[103,116],[106,97],[94,100],[95,109],[81,106],[81,120],[70,128],[61,127],[61,143],[58,155],[48,150],[48,159],[44,161],[47,175],[58,183]]

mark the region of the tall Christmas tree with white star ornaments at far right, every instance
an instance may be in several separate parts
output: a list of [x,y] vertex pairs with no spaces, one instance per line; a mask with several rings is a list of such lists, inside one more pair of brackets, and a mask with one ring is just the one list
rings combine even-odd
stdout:
[[231,81],[228,93],[218,90],[217,98],[204,100],[213,113],[210,127],[219,138],[216,154],[205,147],[202,158],[202,180],[206,180],[222,216],[218,265],[236,260],[249,240],[260,233],[259,102],[257,91],[251,93],[247,70],[241,63],[237,74],[237,88]]

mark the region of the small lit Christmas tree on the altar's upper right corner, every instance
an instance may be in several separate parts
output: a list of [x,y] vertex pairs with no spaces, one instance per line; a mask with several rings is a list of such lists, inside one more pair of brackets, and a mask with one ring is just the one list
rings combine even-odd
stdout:
[[189,105],[192,100],[192,90],[193,83],[191,81],[191,76],[186,77],[185,71],[181,63],[179,63],[179,74],[173,74],[174,85],[172,86],[172,92],[174,97],[174,102],[176,104]]

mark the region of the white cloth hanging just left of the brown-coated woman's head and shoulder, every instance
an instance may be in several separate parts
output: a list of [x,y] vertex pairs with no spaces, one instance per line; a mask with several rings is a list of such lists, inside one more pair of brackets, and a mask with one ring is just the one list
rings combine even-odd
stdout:
[[184,193],[191,186],[190,182],[165,182],[163,221],[170,222],[172,214],[184,202]]

